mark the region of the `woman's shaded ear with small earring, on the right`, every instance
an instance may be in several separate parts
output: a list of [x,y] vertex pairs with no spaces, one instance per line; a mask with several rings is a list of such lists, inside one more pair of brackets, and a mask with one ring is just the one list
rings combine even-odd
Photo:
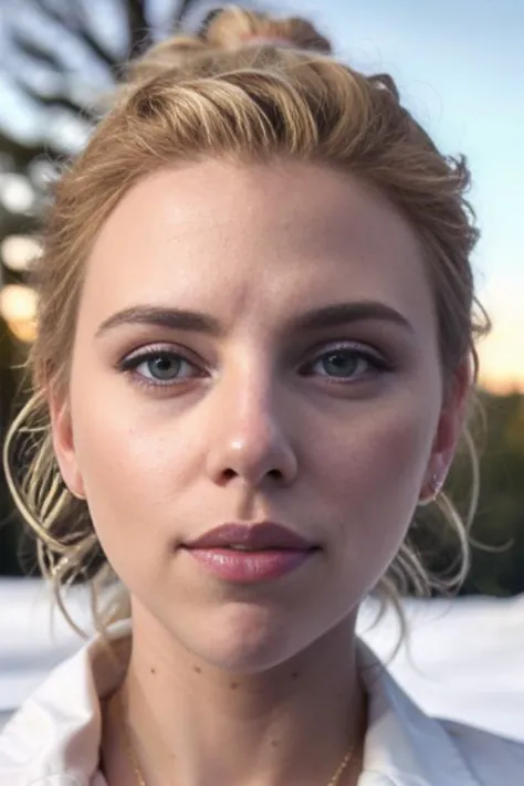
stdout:
[[434,497],[443,485],[468,412],[473,375],[470,359],[464,359],[446,387],[437,432],[421,490],[421,497]]

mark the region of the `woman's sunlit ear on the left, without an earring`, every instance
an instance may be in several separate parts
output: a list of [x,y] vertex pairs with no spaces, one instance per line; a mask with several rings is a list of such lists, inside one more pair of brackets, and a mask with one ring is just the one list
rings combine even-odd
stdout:
[[65,397],[48,394],[54,454],[65,485],[73,496],[85,499],[84,483],[75,452],[71,406]]

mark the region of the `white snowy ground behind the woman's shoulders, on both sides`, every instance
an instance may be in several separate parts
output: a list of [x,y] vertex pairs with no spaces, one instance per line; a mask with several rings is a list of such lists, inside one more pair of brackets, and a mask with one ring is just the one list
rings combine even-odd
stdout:
[[[82,596],[69,608],[87,625]],[[406,602],[410,638],[392,658],[398,627],[388,614],[374,628],[364,606],[359,633],[429,713],[524,741],[524,596]],[[46,588],[0,580],[0,724],[45,674],[81,644]]]

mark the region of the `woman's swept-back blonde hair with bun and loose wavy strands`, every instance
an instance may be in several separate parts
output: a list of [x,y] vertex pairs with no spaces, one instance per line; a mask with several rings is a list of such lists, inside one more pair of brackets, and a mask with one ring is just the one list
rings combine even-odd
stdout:
[[[282,45],[281,45],[282,44]],[[46,390],[65,394],[83,271],[117,202],[146,174],[180,160],[293,158],[355,174],[409,220],[426,250],[434,293],[444,380],[470,358],[488,329],[475,297],[470,254],[478,239],[465,200],[463,158],[443,156],[402,107],[394,80],[337,62],[307,21],[230,7],[195,36],[172,36],[129,69],[114,106],[56,186],[38,261],[39,331],[30,367],[33,395],[4,446],[15,504],[38,542],[41,569],[61,590],[81,577],[92,588],[95,625],[128,615],[125,591],[102,610],[99,587],[114,581],[87,506],[65,486],[53,453]],[[478,486],[473,467],[471,521]],[[399,608],[409,588],[458,586],[469,565],[468,521],[446,494],[437,505],[454,532],[460,559],[444,577],[425,568],[410,536],[377,588]],[[116,583],[116,586],[118,584]]]

